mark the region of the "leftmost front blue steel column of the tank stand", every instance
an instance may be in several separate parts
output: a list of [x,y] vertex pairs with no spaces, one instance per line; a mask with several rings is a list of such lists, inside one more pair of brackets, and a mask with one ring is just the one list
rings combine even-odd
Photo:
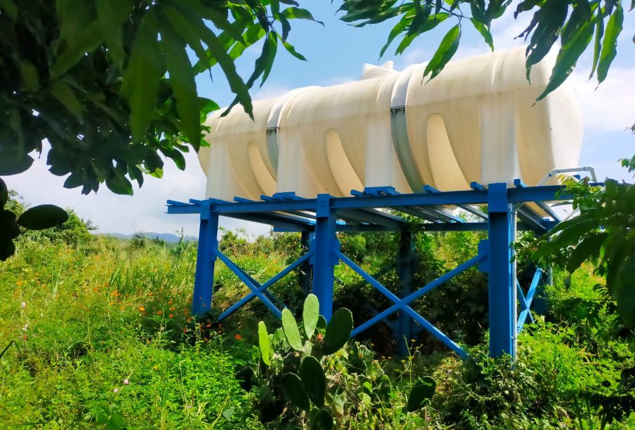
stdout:
[[206,314],[212,307],[215,250],[218,248],[218,213],[210,212],[209,201],[201,204],[199,248],[192,297],[192,315]]

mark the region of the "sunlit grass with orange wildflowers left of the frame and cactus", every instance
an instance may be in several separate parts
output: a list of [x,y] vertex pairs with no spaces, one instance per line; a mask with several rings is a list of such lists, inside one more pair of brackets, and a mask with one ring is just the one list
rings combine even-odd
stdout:
[[242,361],[190,320],[191,247],[26,242],[0,270],[0,427],[258,428]]

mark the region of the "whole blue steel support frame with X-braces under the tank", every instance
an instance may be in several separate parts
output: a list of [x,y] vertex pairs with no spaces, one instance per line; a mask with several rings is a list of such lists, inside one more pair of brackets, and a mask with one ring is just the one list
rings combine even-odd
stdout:
[[[532,303],[540,302],[540,288],[542,286],[542,271],[538,269],[523,295],[523,290],[516,282],[516,267],[512,262],[514,250],[512,241],[516,234],[516,227],[548,231],[559,222],[551,214],[544,201],[568,199],[559,194],[562,187],[540,186],[526,187],[519,181],[515,187],[507,184],[490,184],[483,187],[472,183],[472,190],[456,192],[438,192],[427,188],[426,192],[414,194],[399,194],[391,187],[373,187],[363,192],[352,192],[352,197],[333,197],[321,194],[316,199],[302,199],[293,193],[278,193],[274,196],[262,196],[262,201],[251,201],[236,197],[234,202],[207,199],[204,201],[190,200],[189,203],[168,201],[168,213],[198,213],[201,217],[199,231],[199,258],[196,261],[196,277],[194,281],[194,295],[192,300],[192,314],[206,314],[210,311],[214,267],[216,259],[224,262],[248,288],[250,293],[232,305],[221,314],[226,318],[244,304],[258,297],[276,316],[280,316],[281,305],[276,306],[277,300],[268,288],[290,271],[300,268],[307,274],[313,267],[312,276],[301,276],[302,285],[308,286],[308,279],[312,278],[312,291],[319,298],[320,311],[327,320],[333,313],[333,281],[335,279],[335,265],[340,260],[356,271],[376,290],[380,291],[393,302],[383,311],[377,311],[370,320],[354,328],[352,335],[367,330],[380,321],[387,321],[387,317],[398,313],[399,318],[392,323],[394,331],[404,344],[400,345],[401,352],[406,349],[413,329],[412,321],[428,330],[437,339],[459,356],[466,357],[465,351],[443,332],[434,327],[415,311],[410,304],[436,288],[446,283],[457,274],[478,264],[479,270],[488,273],[488,300],[490,315],[490,355],[500,356],[509,354],[516,356],[516,335],[522,330],[529,318]],[[547,213],[543,217],[524,203],[540,203],[538,207]],[[474,206],[486,204],[488,214],[474,210]],[[467,222],[454,215],[443,212],[443,206],[472,208],[470,212],[487,217],[485,221]],[[425,220],[420,224],[424,231],[475,231],[488,230],[488,240],[479,245],[479,254],[460,264],[455,269],[440,276],[422,288],[413,288],[413,249],[412,238],[406,234],[408,223],[401,217],[383,213],[377,208],[395,208]],[[519,222],[516,224],[516,211]],[[243,271],[232,260],[218,249],[218,219],[220,215],[270,224],[278,231],[301,231],[303,255],[290,264],[279,274],[260,284],[246,271]],[[399,260],[394,269],[400,276],[400,291],[396,295],[379,283],[377,279],[363,271],[339,250],[337,231],[402,231]],[[311,239],[312,238],[312,239]],[[310,245],[307,249],[307,243]],[[550,271],[547,271],[550,274]],[[521,312],[517,314],[517,300],[521,304]]]

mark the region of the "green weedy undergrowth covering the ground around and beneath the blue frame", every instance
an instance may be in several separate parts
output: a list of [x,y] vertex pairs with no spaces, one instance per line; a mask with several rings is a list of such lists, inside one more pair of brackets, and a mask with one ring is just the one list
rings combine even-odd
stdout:
[[[196,243],[121,240],[87,227],[72,215],[66,227],[22,236],[15,256],[0,263],[1,428],[319,428],[307,412],[272,403],[275,375],[267,379],[273,365],[266,370],[260,359],[258,321],[270,332],[279,321],[253,301],[215,323],[248,291],[226,267],[217,265],[213,311],[195,320]],[[417,234],[417,283],[473,255],[480,238]],[[393,234],[340,239],[370,272],[398,246]],[[293,234],[248,241],[226,231],[220,246],[264,281],[298,255],[299,242]],[[336,276],[336,306],[352,309],[357,321],[370,306],[385,306],[352,271],[340,265]],[[394,274],[381,279],[396,288]],[[486,278],[476,270],[415,303],[470,360],[426,332],[410,340],[410,356],[398,357],[385,325],[325,356],[325,408],[335,428],[635,428],[633,333],[591,267],[568,287],[564,279],[556,273],[547,315],[521,332],[515,363],[487,358]],[[272,292],[300,319],[298,284],[292,274]],[[410,390],[424,379],[434,381],[434,395],[408,412]]]

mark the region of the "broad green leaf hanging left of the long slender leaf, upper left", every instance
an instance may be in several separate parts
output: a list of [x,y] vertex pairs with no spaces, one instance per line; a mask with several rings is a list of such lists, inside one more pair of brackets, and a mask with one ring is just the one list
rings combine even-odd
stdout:
[[147,133],[156,108],[159,80],[163,76],[157,37],[154,15],[147,12],[137,32],[121,84],[121,94],[130,102],[130,127],[134,142],[140,142]]

